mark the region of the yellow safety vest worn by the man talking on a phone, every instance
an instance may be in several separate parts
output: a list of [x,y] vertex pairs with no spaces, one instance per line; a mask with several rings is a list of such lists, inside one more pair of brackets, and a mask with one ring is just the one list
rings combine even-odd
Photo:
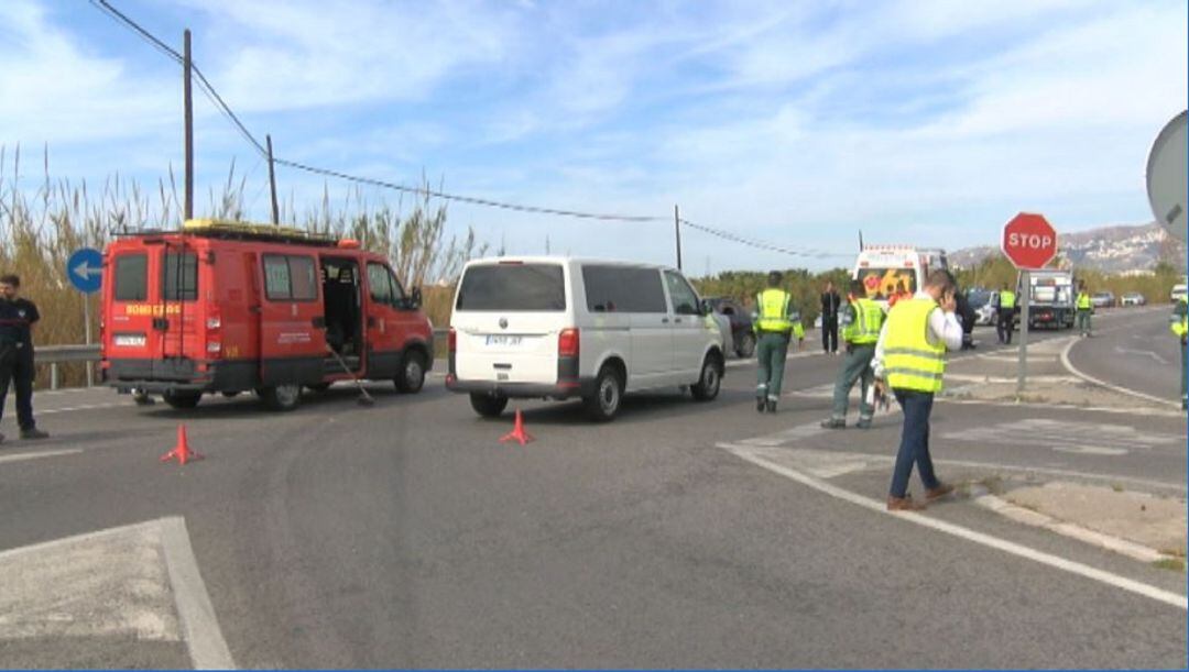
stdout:
[[883,373],[893,389],[937,393],[945,375],[945,343],[929,342],[929,316],[940,310],[932,299],[897,302],[888,313]]

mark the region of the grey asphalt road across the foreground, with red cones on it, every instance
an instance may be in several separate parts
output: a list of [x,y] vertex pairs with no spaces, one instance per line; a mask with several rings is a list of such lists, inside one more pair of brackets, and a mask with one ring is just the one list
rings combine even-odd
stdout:
[[[0,450],[0,551],[182,516],[240,667],[1185,666],[1183,609],[879,515],[719,448],[775,436],[894,454],[894,416],[870,432],[788,438],[825,417],[814,391],[839,362],[791,360],[776,416],[755,413],[747,363],[715,402],[630,398],[610,425],[587,424],[575,404],[526,404],[537,437],[526,448],[497,443],[510,418],[477,418],[440,379],[414,397],[377,387],[372,408],[334,388],[289,414],[246,398],[180,413],[97,391],[43,395],[54,438]],[[993,438],[1037,419],[1182,440],[1103,456]],[[206,459],[159,463],[182,421]],[[942,438],[971,427],[992,438]],[[933,432],[939,462],[1185,478],[1183,418],[954,404],[939,405]],[[886,475],[854,487],[881,497]],[[936,515],[1184,594],[1183,575],[961,502]],[[51,621],[5,639],[0,616],[0,666],[184,655],[169,638],[61,636]]]

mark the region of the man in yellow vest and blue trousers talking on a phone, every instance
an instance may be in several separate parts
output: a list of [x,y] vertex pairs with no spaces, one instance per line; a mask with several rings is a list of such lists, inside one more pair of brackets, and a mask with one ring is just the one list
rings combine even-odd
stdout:
[[888,511],[918,511],[923,502],[908,495],[912,465],[925,486],[925,500],[933,501],[954,492],[933,473],[929,455],[929,416],[933,411],[933,395],[942,391],[945,374],[945,351],[962,347],[962,325],[954,310],[957,283],[949,271],[933,271],[925,287],[907,300],[897,302],[883,323],[875,344],[877,389],[892,388],[904,411],[900,450],[892,471]]

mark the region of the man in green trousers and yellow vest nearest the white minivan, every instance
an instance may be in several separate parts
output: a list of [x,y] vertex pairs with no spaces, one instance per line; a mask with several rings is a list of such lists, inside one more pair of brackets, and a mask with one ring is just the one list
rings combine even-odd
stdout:
[[768,273],[768,289],[755,297],[753,325],[756,335],[755,356],[759,363],[759,383],[755,388],[755,410],[776,412],[780,386],[785,380],[785,359],[788,342],[798,338],[798,349],[805,342],[801,316],[793,308],[793,297],[780,289],[784,275]]

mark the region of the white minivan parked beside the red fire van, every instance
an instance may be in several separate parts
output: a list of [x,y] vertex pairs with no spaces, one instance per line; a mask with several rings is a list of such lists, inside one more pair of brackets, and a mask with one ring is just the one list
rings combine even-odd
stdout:
[[624,392],[718,395],[723,335],[679,271],[559,256],[471,261],[449,329],[446,387],[484,417],[511,398],[580,398],[606,421]]

